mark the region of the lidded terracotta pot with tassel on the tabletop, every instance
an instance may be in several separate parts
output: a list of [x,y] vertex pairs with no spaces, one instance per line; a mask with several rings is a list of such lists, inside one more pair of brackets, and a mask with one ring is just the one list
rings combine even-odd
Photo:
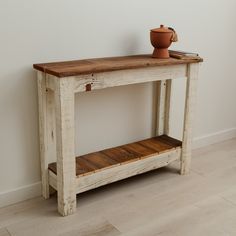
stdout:
[[152,57],[154,58],[169,58],[168,47],[172,42],[178,41],[178,36],[173,28],[161,25],[160,28],[152,29],[150,38],[154,51]]

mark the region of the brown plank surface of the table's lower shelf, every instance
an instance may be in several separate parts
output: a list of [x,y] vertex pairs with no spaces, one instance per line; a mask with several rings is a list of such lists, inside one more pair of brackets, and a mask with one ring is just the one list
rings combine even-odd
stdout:
[[[109,148],[99,152],[76,157],[76,176],[81,177],[119,165],[153,157],[176,148],[182,142],[167,135]],[[57,174],[56,162],[49,164],[49,170]]]

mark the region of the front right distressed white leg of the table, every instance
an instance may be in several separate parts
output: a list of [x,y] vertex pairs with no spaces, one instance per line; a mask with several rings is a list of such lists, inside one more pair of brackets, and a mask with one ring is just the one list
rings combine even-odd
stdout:
[[185,114],[183,127],[183,143],[181,154],[181,174],[188,174],[191,165],[192,129],[196,103],[198,79],[198,63],[189,64],[187,72],[187,86],[185,98]]

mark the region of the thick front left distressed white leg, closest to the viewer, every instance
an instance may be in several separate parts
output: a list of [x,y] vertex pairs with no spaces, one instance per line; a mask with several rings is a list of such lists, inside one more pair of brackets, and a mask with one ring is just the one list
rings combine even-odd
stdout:
[[58,211],[66,216],[76,210],[74,80],[58,78],[55,82]]

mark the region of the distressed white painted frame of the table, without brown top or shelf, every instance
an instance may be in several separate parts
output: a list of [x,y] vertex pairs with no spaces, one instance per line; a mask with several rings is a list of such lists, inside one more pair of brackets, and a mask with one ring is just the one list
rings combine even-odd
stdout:
[[[193,110],[196,97],[198,63],[146,67],[58,78],[38,72],[40,158],[42,194],[49,197],[49,184],[58,192],[58,211],[63,216],[76,210],[76,193],[156,169],[181,160],[181,174],[191,162]],[[157,135],[169,133],[171,81],[187,77],[183,145],[167,153],[118,165],[76,177],[74,144],[74,95],[91,89],[159,81]],[[56,138],[55,138],[56,137]],[[57,175],[48,172],[51,159],[57,160]]]

